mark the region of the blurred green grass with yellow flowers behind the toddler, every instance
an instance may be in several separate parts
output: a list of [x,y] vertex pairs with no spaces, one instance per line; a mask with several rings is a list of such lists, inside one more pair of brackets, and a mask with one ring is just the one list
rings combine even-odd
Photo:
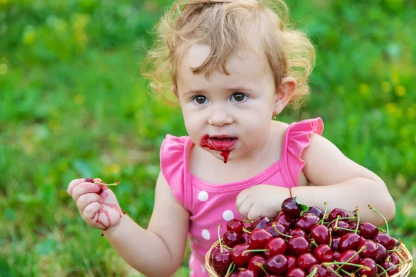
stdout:
[[[0,1],[0,276],[140,276],[66,188],[121,179],[121,206],[148,223],[159,144],[186,134],[179,109],[149,96],[139,74],[168,3]],[[416,256],[415,2],[288,4],[318,63],[309,105],[281,120],[321,116],[324,136],[385,180],[397,203],[390,229]],[[187,274],[185,260],[177,276]]]

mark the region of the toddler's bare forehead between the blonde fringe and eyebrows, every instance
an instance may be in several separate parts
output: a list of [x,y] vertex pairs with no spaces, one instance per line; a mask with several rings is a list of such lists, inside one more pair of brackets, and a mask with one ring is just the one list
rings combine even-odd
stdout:
[[[189,82],[190,80],[199,80],[197,82],[207,82],[204,72],[194,74],[191,68],[202,65],[211,48],[205,44],[192,44],[184,53],[182,62],[178,67],[178,82]],[[237,51],[227,60],[225,69],[230,75],[225,75],[216,70],[209,75],[209,80],[218,80],[218,78],[227,79],[227,82],[254,82],[263,78],[270,77],[270,70],[266,66],[264,58],[259,57],[256,53],[250,51]],[[204,81],[202,81],[202,79]]]

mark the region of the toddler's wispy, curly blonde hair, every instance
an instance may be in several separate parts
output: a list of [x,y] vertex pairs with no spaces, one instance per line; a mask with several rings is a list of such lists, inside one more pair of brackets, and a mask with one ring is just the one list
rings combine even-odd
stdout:
[[211,48],[207,60],[191,68],[193,73],[205,71],[208,78],[212,71],[219,70],[229,75],[227,60],[242,48],[253,49],[253,33],[259,37],[260,54],[266,57],[275,86],[279,87],[285,76],[296,79],[291,107],[300,107],[309,96],[315,48],[304,33],[289,26],[284,1],[178,0],[159,20],[155,33],[141,73],[150,81],[150,89],[165,99],[177,87],[177,65],[191,44]]

